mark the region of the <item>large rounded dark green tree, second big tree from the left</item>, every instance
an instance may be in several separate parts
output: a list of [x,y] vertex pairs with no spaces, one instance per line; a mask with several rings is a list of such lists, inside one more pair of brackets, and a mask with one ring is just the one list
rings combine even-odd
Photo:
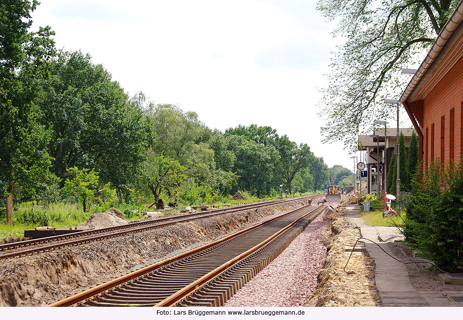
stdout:
[[141,106],[89,55],[61,52],[48,67],[52,76],[40,109],[42,124],[52,131],[53,172],[63,179],[68,167],[95,168],[127,192],[146,147]]

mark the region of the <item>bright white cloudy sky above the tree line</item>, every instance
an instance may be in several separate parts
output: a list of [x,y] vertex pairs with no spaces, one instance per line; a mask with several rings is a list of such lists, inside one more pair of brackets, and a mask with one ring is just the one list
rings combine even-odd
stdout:
[[49,25],[57,48],[90,54],[128,94],[194,111],[222,132],[270,126],[329,167],[353,169],[342,143],[321,142],[320,89],[342,39],[315,0],[40,2],[33,28]]

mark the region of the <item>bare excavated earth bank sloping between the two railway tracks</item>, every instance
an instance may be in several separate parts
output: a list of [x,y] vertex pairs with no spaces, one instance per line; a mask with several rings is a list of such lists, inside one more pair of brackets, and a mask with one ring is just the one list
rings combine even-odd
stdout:
[[307,203],[294,200],[1,260],[0,306],[47,305]]

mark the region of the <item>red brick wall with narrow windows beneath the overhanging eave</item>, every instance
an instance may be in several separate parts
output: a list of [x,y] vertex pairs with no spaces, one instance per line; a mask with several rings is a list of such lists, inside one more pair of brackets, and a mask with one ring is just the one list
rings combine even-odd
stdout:
[[424,167],[437,158],[459,162],[463,158],[463,57],[426,96],[423,113]]

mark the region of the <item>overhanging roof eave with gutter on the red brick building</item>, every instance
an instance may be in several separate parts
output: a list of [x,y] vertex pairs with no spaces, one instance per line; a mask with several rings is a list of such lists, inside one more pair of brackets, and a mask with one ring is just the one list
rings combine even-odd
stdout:
[[439,81],[463,56],[463,0],[445,23],[427,56],[413,75],[400,102],[424,100]]

